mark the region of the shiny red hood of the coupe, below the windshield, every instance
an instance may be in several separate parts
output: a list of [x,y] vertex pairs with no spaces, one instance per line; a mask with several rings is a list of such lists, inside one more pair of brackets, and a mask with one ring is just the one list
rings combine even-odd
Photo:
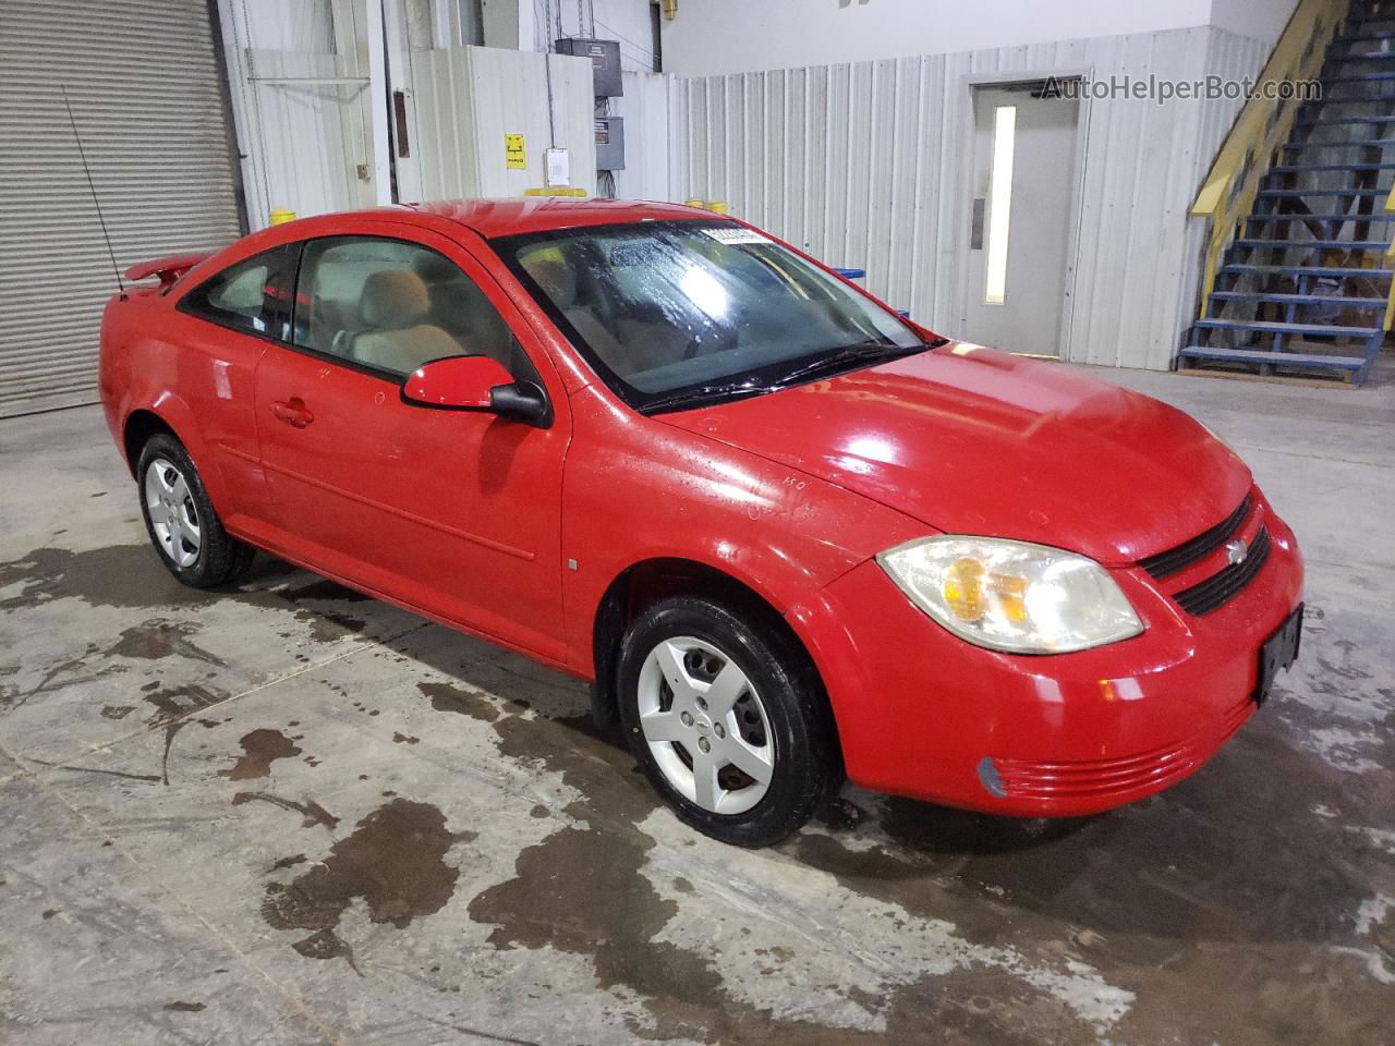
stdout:
[[1219,523],[1250,471],[1175,407],[968,343],[654,418],[944,533],[1126,563]]

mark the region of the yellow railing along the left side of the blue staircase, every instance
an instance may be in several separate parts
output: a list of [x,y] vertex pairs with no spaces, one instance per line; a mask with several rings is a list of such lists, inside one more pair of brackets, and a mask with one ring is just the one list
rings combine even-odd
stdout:
[[[1346,20],[1350,0],[1302,0],[1295,8],[1283,33],[1274,45],[1269,61],[1256,82],[1250,100],[1244,103],[1215,162],[1201,183],[1191,204],[1194,218],[1208,219],[1209,237],[1205,250],[1205,271],[1201,278],[1200,315],[1205,318],[1207,301],[1215,289],[1216,268],[1226,248],[1236,238],[1244,218],[1254,208],[1260,180],[1274,165],[1274,155],[1289,139],[1293,117],[1302,99],[1295,92],[1289,98],[1267,98],[1278,91],[1265,91],[1265,84],[1317,79],[1327,59],[1327,49],[1336,28]],[[1395,303],[1395,298],[1392,298]],[[1392,305],[1395,307],[1395,305]],[[1387,311],[1387,322],[1389,311]]]

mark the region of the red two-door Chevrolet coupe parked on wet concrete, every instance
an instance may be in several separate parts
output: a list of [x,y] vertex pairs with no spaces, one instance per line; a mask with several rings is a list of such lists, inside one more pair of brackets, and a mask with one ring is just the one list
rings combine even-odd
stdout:
[[102,397],[151,540],[254,548],[594,681],[696,828],[845,773],[1105,810],[1297,654],[1303,568],[1186,414],[956,343],[728,218],[469,201],[135,266]]

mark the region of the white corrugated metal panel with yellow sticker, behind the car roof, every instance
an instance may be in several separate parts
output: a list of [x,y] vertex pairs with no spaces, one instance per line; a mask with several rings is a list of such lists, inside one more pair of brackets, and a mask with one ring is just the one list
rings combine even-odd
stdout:
[[[596,191],[589,59],[452,47],[413,50],[409,60],[407,109],[420,199],[520,197],[523,190],[544,184],[543,153],[550,145],[568,151],[572,184]],[[523,170],[509,170],[504,163],[504,135],[511,132],[525,137]],[[406,195],[403,202],[410,202]]]

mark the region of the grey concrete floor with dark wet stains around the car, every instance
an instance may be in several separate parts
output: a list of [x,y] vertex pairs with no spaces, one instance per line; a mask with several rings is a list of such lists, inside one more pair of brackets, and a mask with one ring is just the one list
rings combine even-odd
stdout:
[[0,1042],[1395,1043],[1395,385],[1102,377],[1251,463],[1302,662],[1133,808],[850,788],[763,852],[571,679],[268,558],[181,589],[95,409],[0,423]]

